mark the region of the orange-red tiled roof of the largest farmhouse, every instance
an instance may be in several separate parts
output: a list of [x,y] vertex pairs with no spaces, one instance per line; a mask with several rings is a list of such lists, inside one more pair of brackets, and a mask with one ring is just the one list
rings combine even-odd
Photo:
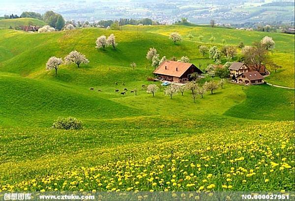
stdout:
[[192,63],[166,60],[153,73],[180,78],[192,65]]

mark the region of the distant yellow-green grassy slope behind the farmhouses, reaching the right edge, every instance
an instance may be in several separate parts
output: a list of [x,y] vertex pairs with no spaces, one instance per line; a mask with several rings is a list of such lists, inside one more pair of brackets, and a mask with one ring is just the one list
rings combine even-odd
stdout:
[[[254,41],[260,41],[264,36],[272,37],[275,41],[275,49],[271,54],[271,58],[277,64],[283,66],[277,73],[272,73],[266,78],[273,84],[294,87],[294,35],[282,34],[282,33],[270,33],[259,31],[246,31],[236,29],[225,28],[209,28],[209,27],[189,27],[189,26],[124,26],[123,30],[134,30],[139,32],[151,32],[161,35],[169,36],[171,32],[179,32],[185,40],[189,40],[187,35],[190,33],[194,36],[193,42],[201,43],[198,39],[200,35],[204,36],[202,43],[212,45],[209,41],[211,36],[214,36],[216,40],[213,42],[217,45],[223,45],[222,40],[226,40],[226,44],[237,46],[239,42],[243,42],[245,45],[252,45]],[[196,49],[196,52],[198,50]],[[281,78],[281,79],[280,79]],[[284,78],[284,79],[282,79]]]

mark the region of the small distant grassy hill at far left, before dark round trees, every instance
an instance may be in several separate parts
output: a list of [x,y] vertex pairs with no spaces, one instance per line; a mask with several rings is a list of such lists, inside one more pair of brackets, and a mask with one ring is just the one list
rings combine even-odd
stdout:
[[0,28],[8,29],[12,27],[13,29],[20,26],[44,26],[46,23],[42,20],[34,18],[18,18],[18,19],[0,19]]

